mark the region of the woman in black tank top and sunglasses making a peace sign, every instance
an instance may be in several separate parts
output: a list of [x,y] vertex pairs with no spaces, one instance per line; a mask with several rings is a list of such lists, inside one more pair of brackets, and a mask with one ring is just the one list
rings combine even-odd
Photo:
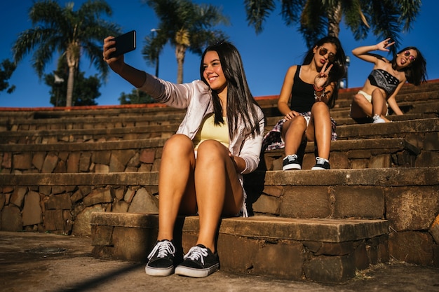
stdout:
[[346,72],[345,60],[339,39],[327,36],[309,49],[302,65],[288,69],[278,99],[284,118],[266,134],[263,145],[267,151],[285,147],[283,170],[302,169],[297,153],[306,141],[317,146],[312,169],[330,169],[330,144],[337,139],[330,108]]

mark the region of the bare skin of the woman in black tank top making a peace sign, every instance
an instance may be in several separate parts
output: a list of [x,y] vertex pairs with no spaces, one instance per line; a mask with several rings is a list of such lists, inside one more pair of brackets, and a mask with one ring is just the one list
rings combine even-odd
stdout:
[[[319,53],[321,47],[327,50],[327,53],[323,56]],[[299,77],[305,83],[313,84],[320,89],[325,85],[329,77],[329,71],[332,68],[332,64],[328,63],[328,58],[330,54],[335,55],[337,49],[333,43],[324,43],[323,46],[313,48],[313,53],[313,60],[310,64],[302,65]],[[282,127],[285,155],[296,154],[304,135],[306,135],[308,141],[316,141],[318,157],[329,159],[332,128],[327,102],[334,91],[334,85],[327,85],[325,87],[326,97],[313,104],[311,120],[308,127],[306,127],[305,118],[300,116],[297,111],[292,111],[288,105],[296,69],[296,65],[288,69],[278,100],[278,109],[285,115],[287,120]],[[318,129],[318,131],[315,129]]]

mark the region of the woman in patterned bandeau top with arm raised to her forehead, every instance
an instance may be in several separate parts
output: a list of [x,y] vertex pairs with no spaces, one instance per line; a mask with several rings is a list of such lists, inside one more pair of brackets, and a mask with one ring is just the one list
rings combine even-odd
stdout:
[[415,47],[407,47],[396,54],[393,60],[386,60],[381,55],[370,53],[373,50],[389,52],[395,42],[390,38],[375,46],[362,46],[352,50],[353,55],[361,60],[374,64],[372,73],[367,77],[365,85],[353,97],[350,116],[358,122],[369,120],[372,123],[386,123],[389,120],[388,106],[393,113],[402,115],[396,103],[396,95],[404,83],[419,85],[426,81],[426,60]]

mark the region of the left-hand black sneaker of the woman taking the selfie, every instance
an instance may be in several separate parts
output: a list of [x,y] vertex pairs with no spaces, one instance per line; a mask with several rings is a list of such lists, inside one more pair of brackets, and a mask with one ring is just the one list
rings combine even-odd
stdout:
[[174,272],[175,246],[172,241],[156,242],[148,256],[145,272],[150,276],[169,276]]

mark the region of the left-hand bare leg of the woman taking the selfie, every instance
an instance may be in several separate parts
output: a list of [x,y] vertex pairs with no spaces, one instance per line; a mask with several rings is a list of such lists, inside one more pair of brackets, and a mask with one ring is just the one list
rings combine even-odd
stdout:
[[177,215],[196,214],[192,141],[175,134],[166,141],[158,178],[158,240],[173,239]]

